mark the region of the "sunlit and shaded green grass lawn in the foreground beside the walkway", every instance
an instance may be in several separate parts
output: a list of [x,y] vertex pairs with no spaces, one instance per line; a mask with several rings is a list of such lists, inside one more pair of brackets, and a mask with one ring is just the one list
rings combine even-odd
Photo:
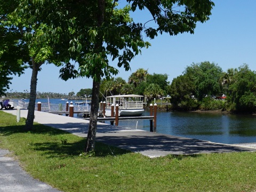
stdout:
[[169,155],[148,158],[0,111],[0,148],[28,173],[62,191],[255,191],[256,153]]

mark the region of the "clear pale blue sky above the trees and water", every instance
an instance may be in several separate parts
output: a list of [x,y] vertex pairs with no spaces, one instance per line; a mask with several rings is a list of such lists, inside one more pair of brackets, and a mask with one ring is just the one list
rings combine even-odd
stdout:
[[[171,82],[182,74],[193,62],[210,61],[217,63],[223,71],[238,68],[247,63],[256,71],[256,1],[254,0],[213,0],[215,6],[209,21],[197,23],[195,34],[159,35],[154,40],[147,39],[151,47],[143,49],[131,63],[131,71],[119,68],[116,77],[125,81],[138,68],[148,69],[150,74],[167,74]],[[135,21],[145,20],[145,12],[132,14]],[[154,23],[152,23],[154,26]],[[111,62],[114,67],[116,63]],[[12,92],[30,89],[31,69],[22,76],[14,76]],[[37,91],[77,93],[81,89],[92,88],[92,79],[78,78],[67,82],[59,78],[59,68],[43,65],[38,73]],[[9,90],[9,91],[10,91]]]

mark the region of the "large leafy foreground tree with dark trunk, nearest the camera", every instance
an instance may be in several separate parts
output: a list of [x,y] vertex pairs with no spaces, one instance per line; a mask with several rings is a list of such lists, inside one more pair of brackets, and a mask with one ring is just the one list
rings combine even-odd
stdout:
[[[58,49],[59,57],[69,57],[78,63],[78,71],[70,70],[72,65],[66,66],[61,71],[64,74],[61,77],[93,78],[90,125],[85,151],[94,150],[95,147],[101,78],[105,76],[109,79],[111,75],[118,73],[115,67],[109,65],[108,56],[117,62],[118,67],[130,70],[130,61],[141,53],[143,47],[150,45],[143,41],[143,32],[151,39],[162,33],[193,34],[196,22],[209,20],[214,6],[210,0],[127,0],[131,3],[131,8],[125,6],[117,9],[117,2],[118,0],[34,0],[21,4],[24,18],[42,21],[52,28],[54,36],[62,43],[62,46],[53,46],[53,49]],[[133,22],[129,11],[136,9],[147,9],[150,12],[153,27],[146,26],[146,23],[143,25]]]

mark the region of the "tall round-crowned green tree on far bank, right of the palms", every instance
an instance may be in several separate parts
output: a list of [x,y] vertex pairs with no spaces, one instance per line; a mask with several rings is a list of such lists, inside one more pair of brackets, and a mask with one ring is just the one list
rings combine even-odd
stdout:
[[222,69],[217,64],[209,61],[193,63],[186,68],[185,74],[195,83],[195,97],[199,101],[202,101],[206,95],[220,94],[221,84],[219,79]]

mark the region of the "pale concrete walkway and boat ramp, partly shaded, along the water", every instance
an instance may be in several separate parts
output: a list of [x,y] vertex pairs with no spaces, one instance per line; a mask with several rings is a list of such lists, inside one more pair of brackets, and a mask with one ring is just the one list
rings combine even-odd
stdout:
[[[4,110],[17,115],[17,110]],[[21,109],[20,116],[27,117],[28,110]],[[89,121],[80,118],[60,116],[41,111],[35,111],[35,122],[78,135],[87,137]],[[230,153],[240,151],[256,151],[255,143],[226,145],[198,139],[176,137],[173,135],[153,133],[128,127],[113,126],[98,123],[96,141],[108,145],[131,150],[149,157],[159,157],[168,154],[202,154]]]

